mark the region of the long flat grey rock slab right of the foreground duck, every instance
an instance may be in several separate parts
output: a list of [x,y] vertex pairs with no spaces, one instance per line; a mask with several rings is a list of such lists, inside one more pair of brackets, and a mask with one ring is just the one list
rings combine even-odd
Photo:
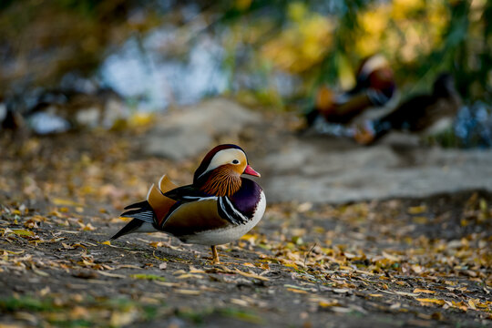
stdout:
[[292,138],[282,152],[271,152],[258,161],[254,160],[255,167],[267,170],[261,185],[270,202],[337,204],[424,198],[465,190],[492,192],[490,149],[387,143],[369,148],[333,148],[319,140]]

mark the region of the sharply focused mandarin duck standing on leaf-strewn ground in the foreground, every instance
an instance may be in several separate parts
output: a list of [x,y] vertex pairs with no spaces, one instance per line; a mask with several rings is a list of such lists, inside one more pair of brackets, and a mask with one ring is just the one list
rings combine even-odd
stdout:
[[261,187],[242,174],[260,177],[240,147],[211,149],[195,171],[193,183],[178,187],[164,175],[152,185],[147,200],[129,205],[122,217],[133,218],[111,239],[133,232],[162,231],[186,243],[216,245],[238,240],[263,216],[266,199]]

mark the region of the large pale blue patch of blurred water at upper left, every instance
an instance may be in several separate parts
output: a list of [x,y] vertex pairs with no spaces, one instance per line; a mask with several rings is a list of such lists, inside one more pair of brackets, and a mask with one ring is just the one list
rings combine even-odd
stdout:
[[137,100],[143,110],[191,104],[224,92],[228,73],[221,67],[224,50],[219,42],[202,34],[186,55],[171,56],[166,47],[176,43],[178,34],[177,28],[164,26],[143,40],[130,38],[100,67],[103,84]]

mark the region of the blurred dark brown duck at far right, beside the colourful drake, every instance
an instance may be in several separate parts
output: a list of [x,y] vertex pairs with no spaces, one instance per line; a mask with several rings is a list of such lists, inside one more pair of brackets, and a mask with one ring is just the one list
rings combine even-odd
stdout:
[[460,107],[461,98],[456,91],[454,78],[443,73],[436,78],[431,94],[412,97],[383,118],[367,122],[364,127],[357,128],[354,138],[368,145],[391,130],[436,134],[451,126]]

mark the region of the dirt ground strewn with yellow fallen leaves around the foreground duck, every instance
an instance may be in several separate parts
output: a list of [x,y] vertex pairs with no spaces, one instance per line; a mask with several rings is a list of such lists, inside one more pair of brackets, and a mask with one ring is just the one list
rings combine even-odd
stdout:
[[269,204],[212,265],[160,233],[108,242],[124,206],[200,161],[142,157],[139,133],[0,137],[0,327],[492,324],[491,195]]

